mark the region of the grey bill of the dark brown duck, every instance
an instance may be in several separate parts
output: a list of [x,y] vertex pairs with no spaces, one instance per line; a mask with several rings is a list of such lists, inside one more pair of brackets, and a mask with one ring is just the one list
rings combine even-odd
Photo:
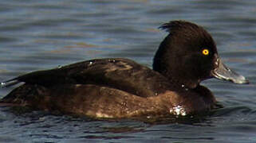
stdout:
[[225,64],[221,60],[217,60],[218,67],[215,68],[211,72],[211,74],[217,78],[222,80],[228,80],[232,83],[238,83],[238,84],[245,84],[249,83],[249,81],[242,75],[239,75],[238,73],[232,71],[230,68],[226,67]]

